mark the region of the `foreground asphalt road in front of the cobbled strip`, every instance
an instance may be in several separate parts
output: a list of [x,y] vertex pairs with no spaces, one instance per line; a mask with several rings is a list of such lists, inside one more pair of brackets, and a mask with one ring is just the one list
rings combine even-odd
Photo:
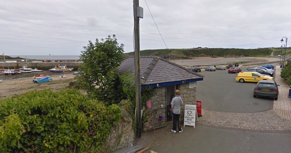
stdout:
[[[280,152],[291,150],[291,134],[242,132],[209,127],[183,127],[182,133],[156,130],[145,133],[138,144],[151,146],[146,152]],[[153,153],[153,152],[151,152]]]

